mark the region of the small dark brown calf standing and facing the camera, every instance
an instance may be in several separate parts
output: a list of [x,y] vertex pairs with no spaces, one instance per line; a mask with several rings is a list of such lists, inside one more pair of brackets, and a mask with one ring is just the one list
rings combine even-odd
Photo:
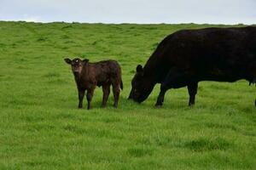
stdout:
[[90,102],[96,86],[103,91],[102,107],[105,107],[110,93],[110,85],[113,86],[114,107],[118,106],[119,92],[123,89],[121,68],[115,60],[104,60],[90,63],[89,59],[65,59],[71,65],[73,76],[79,91],[79,108],[83,107],[84,92],[87,90],[87,109],[91,108]]

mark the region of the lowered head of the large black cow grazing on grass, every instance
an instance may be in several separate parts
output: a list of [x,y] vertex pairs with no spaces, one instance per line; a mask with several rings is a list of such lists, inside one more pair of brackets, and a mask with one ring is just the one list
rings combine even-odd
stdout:
[[128,99],[133,99],[138,103],[148,98],[154,88],[151,78],[144,76],[143,66],[137,65],[136,74],[131,80],[131,92]]

